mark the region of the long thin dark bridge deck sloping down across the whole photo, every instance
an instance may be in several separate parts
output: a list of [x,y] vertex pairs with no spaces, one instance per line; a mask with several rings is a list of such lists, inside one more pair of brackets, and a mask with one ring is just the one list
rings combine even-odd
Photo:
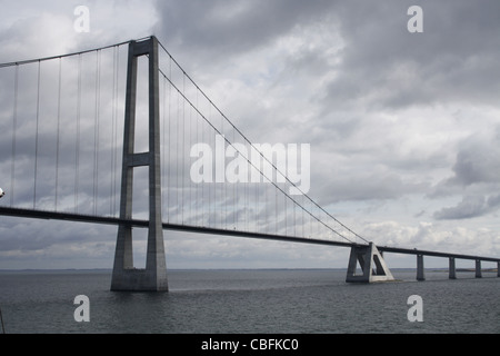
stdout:
[[[24,208],[12,208],[12,207],[0,207],[0,215],[22,217],[22,218],[34,218],[34,219],[54,219],[54,220],[67,220],[76,222],[91,222],[91,224],[106,224],[106,225],[129,225],[136,227],[148,227],[148,220],[141,219],[121,219],[117,217],[109,216],[92,216],[74,212],[62,212],[62,211],[47,211],[47,210],[36,210],[36,209],[24,209]],[[197,234],[210,234],[210,235],[223,235],[223,236],[237,236],[244,238],[254,239],[268,239],[278,240],[287,243],[303,243],[303,244],[314,244],[314,245],[328,245],[328,246],[339,246],[339,247],[352,247],[352,246],[368,246],[366,244],[352,244],[317,238],[306,238],[306,237],[294,237],[286,235],[273,235],[273,234],[262,234],[262,233],[249,233],[239,231],[230,229],[219,229],[201,226],[187,226],[179,224],[163,222],[163,229],[166,230],[179,230],[187,233]],[[472,260],[483,260],[483,261],[496,261],[500,263],[500,258],[484,257],[484,256],[473,256],[473,255],[461,255],[461,254],[449,254],[439,253],[432,250],[421,250],[401,247],[390,247],[390,246],[377,246],[381,253],[393,253],[393,254],[406,254],[406,255],[417,255],[417,256],[433,256],[433,257],[446,257],[446,258],[457,258],[457,259],[472,259]]]

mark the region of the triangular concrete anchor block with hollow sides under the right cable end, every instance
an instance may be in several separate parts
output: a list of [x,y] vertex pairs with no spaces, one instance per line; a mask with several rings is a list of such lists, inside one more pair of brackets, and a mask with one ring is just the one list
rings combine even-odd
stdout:
[[[361,268],[362,274],[357,275],[357,266]],[[368,246],[352,246],[349,257],[349,265],[346,281],[347,283],[372,283],[394,280],[391,271],[386,265],[382,255],[373,243]]]

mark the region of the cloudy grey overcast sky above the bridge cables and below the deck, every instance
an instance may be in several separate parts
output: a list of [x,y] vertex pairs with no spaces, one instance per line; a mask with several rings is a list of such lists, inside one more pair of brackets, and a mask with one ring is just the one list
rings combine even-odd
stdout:
[[[89,32],[73,28],[79,4],[89,9]],[[407,27],[414,4],[420,33]],[[361,236],[500,256],[497,0],[1,0],[0,8],[0,62],[156,34],[250,140],[310,144],[309,195]],[[9,78],[0,73],[2,131],[12,127]],[[0,187],[10,184],[10,140],[0,144],[8,180]],[[20,136],[18,151],[22,145]],[[0,268],[110,268],[116,234],[0,217]],[[346,267],[349,256],[170,231],[164,239],[168,268]],[[387,259],[414,267],[413,257]]]

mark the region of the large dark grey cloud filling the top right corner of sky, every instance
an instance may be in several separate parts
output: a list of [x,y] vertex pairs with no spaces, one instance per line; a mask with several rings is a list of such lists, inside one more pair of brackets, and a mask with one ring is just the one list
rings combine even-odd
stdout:
[[[423,33],[409,33],[414,1],[344,2],[340,76],[327,99],[372,108],[467,100],[494,102],[500,90],[498,1],[422,1]],[[358,6],[357,6],[358,4]]]

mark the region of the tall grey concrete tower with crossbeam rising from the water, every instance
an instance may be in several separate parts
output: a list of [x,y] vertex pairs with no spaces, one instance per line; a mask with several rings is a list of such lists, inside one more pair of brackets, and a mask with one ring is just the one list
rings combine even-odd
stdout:
[[[149,58],[149,151],[134,152],[138,57]],[[132,218],[133,168],[149,167],[149,227],[146,268],[133,267],[132,227],[120,224],[111,290],[168,290],[161,221],[160,115],[158,40],[154,37],[129,43],[120,219]]]

